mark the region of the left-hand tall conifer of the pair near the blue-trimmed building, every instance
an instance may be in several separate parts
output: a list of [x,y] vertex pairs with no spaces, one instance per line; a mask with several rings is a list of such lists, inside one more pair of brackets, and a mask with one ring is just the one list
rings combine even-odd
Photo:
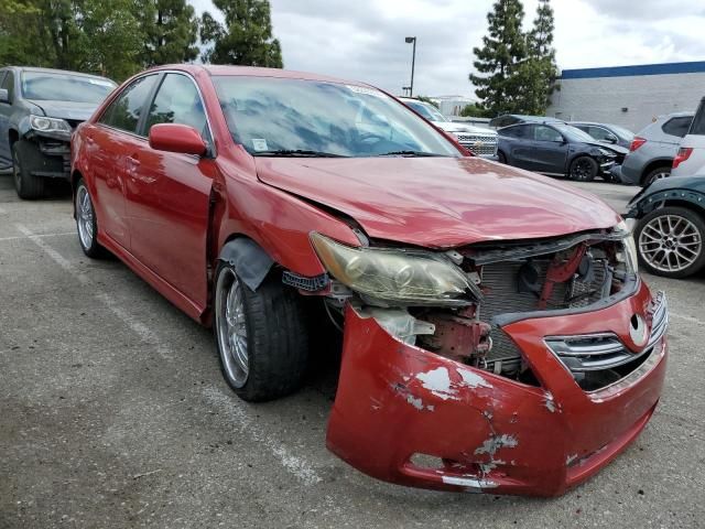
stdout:
[[481,107],[494,115],[513,114],[521,108],[522,63],[528,53],[521,31],[523,17],[520,0],[497,0],[487,14],[489,34],[482,37],[481,47],[473,48],[473,64],[481,75],[470,74],[470,82]]

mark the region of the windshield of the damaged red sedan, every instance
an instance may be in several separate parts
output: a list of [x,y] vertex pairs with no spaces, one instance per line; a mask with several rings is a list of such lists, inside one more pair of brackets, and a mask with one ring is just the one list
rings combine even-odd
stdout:
[[252,155],[460,155],[375,88],[273,77],[213,80],[235,141]]

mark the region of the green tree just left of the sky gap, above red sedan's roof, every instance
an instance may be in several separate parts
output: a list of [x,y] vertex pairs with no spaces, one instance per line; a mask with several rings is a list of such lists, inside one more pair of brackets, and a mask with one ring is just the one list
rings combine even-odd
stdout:
[[185,0],[137,0],[143,66],[186,63],[198,56],[198,19]]

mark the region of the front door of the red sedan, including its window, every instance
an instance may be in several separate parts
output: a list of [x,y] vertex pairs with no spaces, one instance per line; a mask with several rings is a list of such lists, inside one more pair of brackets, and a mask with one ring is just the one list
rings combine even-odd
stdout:
[[[182,123],[213,144],[206,111],[195,80],[167,73],[143,125],[143,134],[156,123]],[[206,234],[213,156],[156,151],[140,143],[129,153],[134,171],[127,183],[127,207],[132,253],[197,306],[207,295]]]

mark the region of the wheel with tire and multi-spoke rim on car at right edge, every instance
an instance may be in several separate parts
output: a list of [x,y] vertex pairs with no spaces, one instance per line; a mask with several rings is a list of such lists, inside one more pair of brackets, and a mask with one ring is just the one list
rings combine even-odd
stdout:
[[655,276],[685,278],[703,268],[705,223],[684,207],[655,209],[639,220],[634,233],[639,261]]

